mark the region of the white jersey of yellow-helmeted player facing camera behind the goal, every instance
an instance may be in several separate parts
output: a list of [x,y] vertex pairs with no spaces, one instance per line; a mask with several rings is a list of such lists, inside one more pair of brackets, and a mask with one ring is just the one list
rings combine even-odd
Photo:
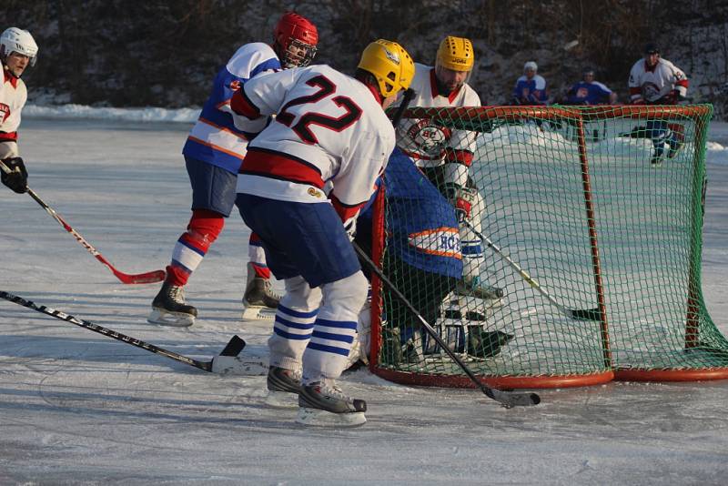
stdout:
[[[410,106],[449,107],[480,106],[480,96],[468,84],[440,96],[435,68],[415,63],[415,76],[410,88],[417,95]],[[397,147],[410,156],[419,167],[437,167],[444,161],[470,166],[475,144],[475,132],[450,130],[432,123],[430,119],[404,118],[397,128]]]

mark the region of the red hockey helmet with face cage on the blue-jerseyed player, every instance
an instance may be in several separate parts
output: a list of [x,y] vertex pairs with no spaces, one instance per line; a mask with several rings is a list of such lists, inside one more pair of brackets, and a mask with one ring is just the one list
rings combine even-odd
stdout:
[[308,66],[316,56],[319,31],[308,18],[295,12],[286,12],[273,30],[276,51],[281,66]]

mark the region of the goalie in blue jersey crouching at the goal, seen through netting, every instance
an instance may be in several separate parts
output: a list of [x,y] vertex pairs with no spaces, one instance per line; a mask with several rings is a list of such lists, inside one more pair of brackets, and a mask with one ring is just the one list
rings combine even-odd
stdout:
[[[480,310],[470,308],[440,311],[440,303],[456,289],[462,278],[458,221],[450,203],[440,194],[410,157],[399,148],[389,157],[384,171],[387,251],[383,271],[394,286],[456,352],[487,359],[501,352],[513,336],[486,329]],[[356,241],[371,253],[372,206],[362,211]],[[368,273],[365,271],[365,273]],[[385,295],[388,289],[384,289]],[[418,362],[441,351],[421,329],[420,321],[396,297],[384,300],[386,324],[382,329],[381,362],[397,365]],[[369,308],[359,315],[359,353],[349,356],[354,364],[369,354]]]

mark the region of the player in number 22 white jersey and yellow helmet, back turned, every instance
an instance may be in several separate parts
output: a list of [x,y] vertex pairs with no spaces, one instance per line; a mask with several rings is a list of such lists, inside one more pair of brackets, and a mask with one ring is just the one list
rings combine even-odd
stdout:
[[384,108],[410,86],[414,63],[399,44],[379,40],[358,67],[354,77],[329,66],[259,76],[232,100],[253,120],[276,114],[248,146],[237,204],[286,284],[268,339],[268,399],[297,393],[297,420],[306,424],[365,421],[364,400],[335,383],[367,298],[349,239],[395,146]]

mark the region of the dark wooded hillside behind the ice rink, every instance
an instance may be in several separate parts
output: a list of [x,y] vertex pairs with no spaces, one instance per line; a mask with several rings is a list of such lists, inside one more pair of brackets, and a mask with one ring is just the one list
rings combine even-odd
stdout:
[[25,76],[31,103],[179,107],[200,106],[217,69],[241,44],[270,41],[287,9],[318,25],[317,62],[345,72],[378,37],[424,64],[445,35],[470,37],[470,84],[490,105],[507,101],[528,60],[552,97],[593,66],[625,102],[630,67],[655,41],[689,76],[693,102],[728,115],[728,0],[3,0],[0,18],[40,46]]

